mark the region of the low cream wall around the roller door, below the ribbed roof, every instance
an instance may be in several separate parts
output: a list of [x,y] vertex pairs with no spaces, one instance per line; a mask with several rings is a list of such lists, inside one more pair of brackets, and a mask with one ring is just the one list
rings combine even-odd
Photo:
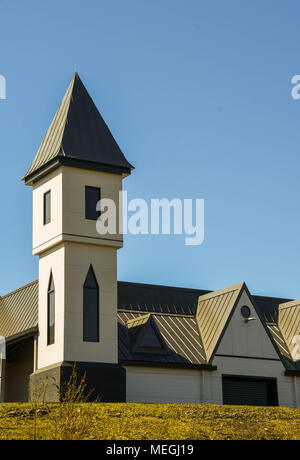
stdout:
[[279,405],[300,408],[300,378],[286,377],[281,362],[218,357],[214,364],[215,371],[126,367],[127,402],[223,404],[222,375],[229,374],[276,378]]

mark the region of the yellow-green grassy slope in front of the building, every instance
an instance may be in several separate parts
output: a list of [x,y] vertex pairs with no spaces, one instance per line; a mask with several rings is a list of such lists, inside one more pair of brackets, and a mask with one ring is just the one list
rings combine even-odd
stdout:
[[[52,439],[67,420],[57,410],[39,406],[35,417],[30,404],[0,404],[0,439]],[[78,405],[76,413],[88,420],[79,436],[87,439],[300,439],[296,409],[127,403]]]

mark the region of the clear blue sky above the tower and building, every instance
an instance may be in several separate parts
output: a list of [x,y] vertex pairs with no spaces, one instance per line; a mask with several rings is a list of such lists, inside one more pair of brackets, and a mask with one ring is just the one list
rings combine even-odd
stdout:
[[205,241],[127,236],[118,277],[300,297],[300,5],[0,0],[0,294],[38,276],[32,161],[75,66],[128,160],[129,198],[204,198]]

